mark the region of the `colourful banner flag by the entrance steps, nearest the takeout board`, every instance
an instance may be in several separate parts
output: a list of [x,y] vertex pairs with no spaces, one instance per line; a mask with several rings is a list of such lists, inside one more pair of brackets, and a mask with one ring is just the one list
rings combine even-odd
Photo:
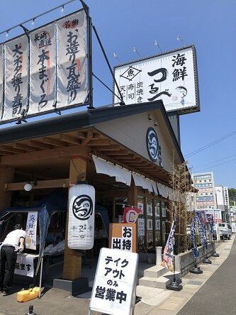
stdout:
[[166,245],[164,246],[162,267],[169,269],[169,271],[174,271],[174,231],[175,222],[172,223],[171,231],[169,232],[169,237]]

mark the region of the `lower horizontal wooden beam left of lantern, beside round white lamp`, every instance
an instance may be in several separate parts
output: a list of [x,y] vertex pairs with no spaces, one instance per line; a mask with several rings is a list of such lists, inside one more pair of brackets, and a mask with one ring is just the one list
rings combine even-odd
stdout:
[[[12,183],[5,184],[4,192],[24,190],[25,184],[26,182],[12,182]],[[32,189],[47,189],[47,188],[59,188],[59,187],[69,187],[69,178],[40,180],[40,181],[35,182],[35,186],[32,184]]]

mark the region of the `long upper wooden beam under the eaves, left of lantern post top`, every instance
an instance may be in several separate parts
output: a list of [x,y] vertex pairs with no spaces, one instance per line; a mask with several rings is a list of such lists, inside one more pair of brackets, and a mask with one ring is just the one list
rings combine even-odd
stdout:
[[37,152],[28,152],[24,154],[3,156],[1,157],[1,165],[23,165],[27,164],[28,161],[41,160],[41,159],[54,159],[60,157],[69,156],[83,156],[89,157],[91,150],[87,147],[82,147],[81,145],[72,145],[65,148],[55,148],[51,150],[43,150]]

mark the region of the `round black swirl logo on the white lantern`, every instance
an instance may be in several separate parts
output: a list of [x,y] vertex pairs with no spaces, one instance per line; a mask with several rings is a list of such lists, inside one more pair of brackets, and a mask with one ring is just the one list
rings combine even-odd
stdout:
[[73,214],[79,220],[88,220],[93,214],[93,201],[91,197],[82,194],[74,199]]

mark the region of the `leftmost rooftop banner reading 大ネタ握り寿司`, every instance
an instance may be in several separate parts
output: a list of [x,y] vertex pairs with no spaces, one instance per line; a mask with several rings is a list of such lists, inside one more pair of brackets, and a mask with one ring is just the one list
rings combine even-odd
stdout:
[[5,44],[5,101],[2,121],[21,118],[28,108],[28,38]]

